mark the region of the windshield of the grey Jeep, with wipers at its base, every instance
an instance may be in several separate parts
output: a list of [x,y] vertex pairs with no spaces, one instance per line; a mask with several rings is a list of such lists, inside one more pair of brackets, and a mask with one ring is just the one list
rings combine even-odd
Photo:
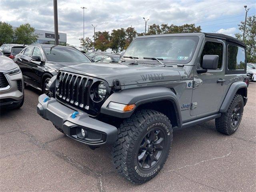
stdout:
[[188,63],[196,49],[198,36],[169,36],[135,39],[124,56],[161,58],[163,62]]

